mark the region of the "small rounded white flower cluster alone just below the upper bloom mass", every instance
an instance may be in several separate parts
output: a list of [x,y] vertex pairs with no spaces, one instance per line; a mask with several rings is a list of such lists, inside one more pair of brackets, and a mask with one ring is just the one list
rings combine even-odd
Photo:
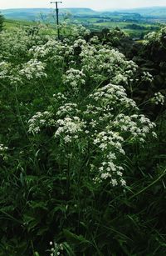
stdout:
[[71,89],[71,93],[76,95],[79,93],[81,86],[85,84],[85,73],[81,70],[70,68],[66,71],[63,81]]

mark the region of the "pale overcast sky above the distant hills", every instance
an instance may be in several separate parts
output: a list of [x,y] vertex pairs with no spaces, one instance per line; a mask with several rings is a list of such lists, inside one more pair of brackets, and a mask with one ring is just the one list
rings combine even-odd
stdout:
[[[0,9],[5,8],[51,8],[49,0],[0,0]],[[61,8],[93,8],[95,10],[115,8],[138,8],[166,6],[166,0],[63,0]]]

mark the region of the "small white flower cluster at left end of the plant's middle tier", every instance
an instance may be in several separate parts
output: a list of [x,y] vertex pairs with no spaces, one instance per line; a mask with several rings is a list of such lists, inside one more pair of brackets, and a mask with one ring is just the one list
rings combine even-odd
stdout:
[[55,125],[53,113],[49,111],[45,111],[43,113],[37,112],[31,119],[28,120],[28,124],[28,133],[39,133],[42,127]]

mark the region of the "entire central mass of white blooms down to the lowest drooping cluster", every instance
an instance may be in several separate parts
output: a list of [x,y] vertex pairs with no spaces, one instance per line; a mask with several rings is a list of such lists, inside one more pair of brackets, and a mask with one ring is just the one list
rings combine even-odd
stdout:
[[[29,53],[35,59],[44,58],[48,69],[52,63],[61,73],[66,70],[66,63],[69,67],[61,77],[65,85],[61,92],[65,94],[55,93],[48,111],[36,113],[29,120],[29,133],[53,126],[53,137],[60,142],[63,153],[71,144],[79,148],[78,154],[81,150],[87,153],[89,147],[96,155],[89,163],[95,168],[91,173],[95,182],[108,179],[113,187],[125,186],[125,147],[142,145],[154,128],[154,123],[139,114],[139,108],[124,88],[136,81],[138,66],[117,50],[101,46],[98,38],[92,38],[90,43],[75,36],[71,41],[49,40]],[[144,73],[143,79],[151,81],[152,77]],[[81,101],[81,88],[87,81],[95,82],[96,88]],[[109,84],[102,87],[104,81]]]

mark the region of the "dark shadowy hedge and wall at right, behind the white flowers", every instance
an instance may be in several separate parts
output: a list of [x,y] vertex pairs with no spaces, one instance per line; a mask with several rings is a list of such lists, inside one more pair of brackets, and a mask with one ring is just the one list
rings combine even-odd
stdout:
[[[155,37],[151,42],[149,41],[148,45],[143,45],[141,42],[134,42],[127,33],[118,27],[111,30],[105,28],[102,32],[92,32],[86,40],[89,40],[93,36],[98,36],[100,43],[106,43],[110,47],[118,48],[120,53],[124,53],[128,59],[132,59],[134,63],[137,63],[139,65],[138,78],[143,72],[149,72],[153,75],[154,81],[150,86],[149,83],[143,81],[141,82],[142,84],[139,84],[139,88],[134,87],[132,97],[138,104],[146,102],[158,88],[161,92],[165,93],[166,40],[164,28],[155,34]],[[156,115],[160,112],[159,107],[154,109],[154,105],[150,103],[141,106],[141,108],[144,108],[144,112],[151,115],[152,118],[156,118]]]

